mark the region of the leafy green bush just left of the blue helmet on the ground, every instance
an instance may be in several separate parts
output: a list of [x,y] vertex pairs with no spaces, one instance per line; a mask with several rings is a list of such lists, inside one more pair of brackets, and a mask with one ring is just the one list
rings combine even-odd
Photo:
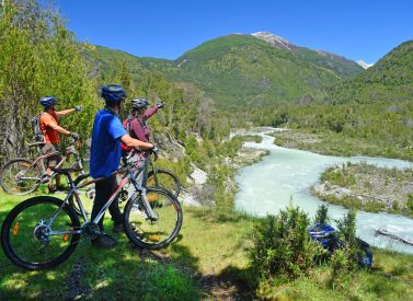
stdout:
[[294,206],[257,222],[252,233],[254,246],[249,251],[254,275],[294,279],[308,271],[321,252],[307,232],[309,223],[307,213]]

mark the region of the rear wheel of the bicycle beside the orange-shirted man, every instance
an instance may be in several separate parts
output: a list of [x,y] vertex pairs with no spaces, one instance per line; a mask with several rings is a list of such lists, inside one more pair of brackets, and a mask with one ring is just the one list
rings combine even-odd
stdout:
[[41,185],[38,165],[24,158],[10,160],[0,171],[0,185],[11,195],[27,195]]

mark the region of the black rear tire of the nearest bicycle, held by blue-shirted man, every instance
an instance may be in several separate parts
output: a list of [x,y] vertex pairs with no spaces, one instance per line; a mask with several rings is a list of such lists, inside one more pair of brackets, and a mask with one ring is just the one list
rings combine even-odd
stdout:
[[[27,208],[34,207],[36,205],[42,205],[42,204],[49,204],[49,205],[56,206],[56,208],[59,208],[62,204],[62,200],[55,197],[49,197],[49,196],[39,196],[39,197],[28,198],[24,200],[23,202],[19,204],[18,206],[15,206],[9,212],[9,215],[5,217],[1,227],[1,246],[3,248],[5,256],[16,266],[25,268],[25,269],[30,269],[30,270],[50,268],[50,267],[55,267],[64,263],[74,252],[74,248],[77,247],[79,243],[79,239],[80,239],[80,234],[72,234],[71,240],[68,243],[68,247],[59,256],[48,262],[38,263],[38,262],[30,262],[25,258],[21,258],[15,253],[15,250],[13,250],[13,246],[10,242],[10,236],[11,236],[10,234],[14,235],[13,231],[15,231],[14,229],[15,224],[14,227],[12,227],[13,221],[19,217],[20,213],[22,213]],[[64,210],[60,211],[59,215],[61,215],[62,212],[66,212],[71,222],[70,227],[73,229],[74,228],[80,229],[79,219],[74,215],[74,212],[70,209],[70,207],[65,205],[62,209]],[[50,217],[45,217],[45,218],[50,218]],[[33,227],[30,227],[28,229],[32,229],[32,228]],[[14,236],[16,236],[16,234]]]

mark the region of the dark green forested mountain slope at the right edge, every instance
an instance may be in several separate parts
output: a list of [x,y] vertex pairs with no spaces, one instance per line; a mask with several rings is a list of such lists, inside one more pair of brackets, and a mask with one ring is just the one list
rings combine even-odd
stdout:
[[413,40],[392,49],[358,76],[329,89],[330,103],[409,102],[413,97]]

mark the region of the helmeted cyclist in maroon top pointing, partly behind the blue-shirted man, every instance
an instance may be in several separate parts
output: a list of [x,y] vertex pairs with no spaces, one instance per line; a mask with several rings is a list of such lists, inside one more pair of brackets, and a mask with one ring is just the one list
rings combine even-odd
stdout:
[[[123,125],[128,130],[130,137],[139,139],[140,141],[149,142],[150,128],[147,126],[146,120],[152,117],[159,108],[163,107],[163,103],[156,104],[148,109],[149,102],[147,99],[138,97],[131,101],[130,115],[124,120]],[[130,151],[124,143],[122,143],[123,153]],[[148,157],[149,152],[142,151],[139,153],[139,158],[144,161],[145,167],[142,172],[142,183],[146,187],[148,181]],[[130,187],[133,188],[133,187]],[[130,192],[129,192],[130,194]]]

